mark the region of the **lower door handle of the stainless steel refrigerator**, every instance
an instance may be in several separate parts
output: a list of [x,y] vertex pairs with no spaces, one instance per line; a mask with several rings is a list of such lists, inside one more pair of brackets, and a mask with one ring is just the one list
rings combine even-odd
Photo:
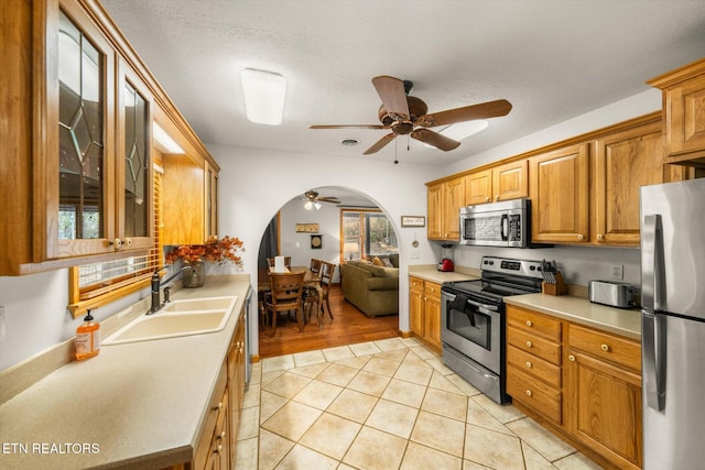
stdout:
[[647,406],[658,412],[665,406],[665,325],[663,316],[641,313],[643,387]]

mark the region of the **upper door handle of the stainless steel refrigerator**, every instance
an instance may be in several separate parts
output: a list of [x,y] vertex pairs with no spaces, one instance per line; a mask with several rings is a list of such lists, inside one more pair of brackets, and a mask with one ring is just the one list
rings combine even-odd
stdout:
[[641,233],[641,306],[649,310],[663,309],[663,230],[661,216],[643,217]]

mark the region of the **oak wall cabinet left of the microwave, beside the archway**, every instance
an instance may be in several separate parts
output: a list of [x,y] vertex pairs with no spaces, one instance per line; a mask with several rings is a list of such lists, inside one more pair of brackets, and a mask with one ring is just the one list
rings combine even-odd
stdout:
[[430,240],[460,240],[460,207],[465,206],[465,178],[427,185]]

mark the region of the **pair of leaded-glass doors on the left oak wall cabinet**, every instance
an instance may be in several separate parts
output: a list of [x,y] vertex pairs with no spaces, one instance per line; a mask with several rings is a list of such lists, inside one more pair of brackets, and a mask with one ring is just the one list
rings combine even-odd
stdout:
[[77,2],[40,4],[35,261],[149,249],[153,98]]

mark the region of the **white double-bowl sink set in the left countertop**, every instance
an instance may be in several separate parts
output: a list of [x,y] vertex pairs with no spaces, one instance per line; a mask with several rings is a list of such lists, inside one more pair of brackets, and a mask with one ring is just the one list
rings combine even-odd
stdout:
[[141,315],[104,341],[102,346],[205,335],[225,328],[237,297],[174,300],[153,315]]

